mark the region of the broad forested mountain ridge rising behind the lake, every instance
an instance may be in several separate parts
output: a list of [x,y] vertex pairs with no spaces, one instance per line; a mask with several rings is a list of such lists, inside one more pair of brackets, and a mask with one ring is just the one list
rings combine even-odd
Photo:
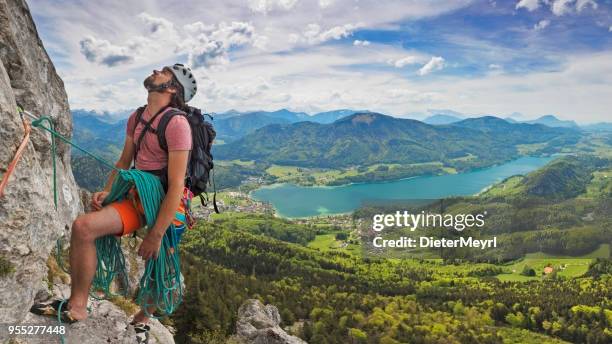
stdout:
[[[512,124],[496,117],[432,126],[378,113],[358,113],[330,124],[269,125],[215,147],[215,156],[327,168],[441,161],[461,169],[516,157],[520,144],[575,142],[579,136],[569,129]],[[475,159],[458,159],[466,156]]]

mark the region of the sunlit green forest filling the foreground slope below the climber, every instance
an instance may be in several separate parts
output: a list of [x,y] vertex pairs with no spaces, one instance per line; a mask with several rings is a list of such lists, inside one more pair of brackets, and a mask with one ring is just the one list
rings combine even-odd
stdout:
[[609,259],[579,278],[502,282],[490,277],[493,264],[322,252],[243,230],[244,221],[225,218],[186,234],[186,295],[172,317],[177,342],[224,343],[247,298],[276,305],[283,325],[297,323],[310,343],[612,340]]

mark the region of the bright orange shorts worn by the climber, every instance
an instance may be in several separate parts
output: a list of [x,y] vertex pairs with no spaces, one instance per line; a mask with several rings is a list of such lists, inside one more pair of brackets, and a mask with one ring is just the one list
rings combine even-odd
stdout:
[[[182,229],[184,229],[185,226],[191,228],[190,221],[187,221],[187,217],[189,216],[187,207],[191,202],[191,197],[191,191],[185,188],[179,207],[176,210],[176,215],[172,221],[177,228],[182,227]],[[128,196],[123,200],[113,202],[109,205],[117,210],[121,217],[121,223],[123,224],[123,231],[121,234],[117,234],[117,236],[128,235],[146,225],[144,208],[142,207],[138,192],[135,188],[130,189]]]

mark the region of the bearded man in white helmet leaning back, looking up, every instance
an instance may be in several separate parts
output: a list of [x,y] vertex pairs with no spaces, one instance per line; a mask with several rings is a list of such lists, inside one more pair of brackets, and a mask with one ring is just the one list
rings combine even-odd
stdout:
[[[159,171],[167,173],[164,176],[167,192],[157,220],[138,249],[139,256],[149,259],[157,257],[162,238],[173,221],[176,226],[184,228],[185,224],[178,220],[184,217],[177,216],[177,213],[184,214],[184,198],[189,195],[189,191],[184,187],[184,181],[192,139],[187,119],[184,116],[173,116],[165,131],[168,147],[165,151],[159,145],[157,134],[147,130],[145,124],[150,122],[152,128],[157,128],[166,111],[171,108],[184,110],[185,103],[191,100],[197,91],[197,85],[189,68],[175,64],[164,67],[161,71],[154,70],[144,80],[144,86],[148,91],[147,106],[139,121],[137,121],[137,112],[130,116],[123,152],[115,166],[128,169],[135,160],[135,167],[139,170],[152,171],[156,174],[159,174]],[[92,199],[94,211],[79,215],[72,225],[70,240],[72,286],[70,299],[62,307],[60,314],[63,321],[75,322],[87,318],[87,299],[97,264],[95,240],[110,234],[128,235],[145,225],[144,211],[135,189],[130,191],[130,197],[102,206],[115,175],[115,171],[110,174],[104,191],[94,193]],[[31,311],[41,315],[57,316],[60,303],[61,300],[52,300],[35,304]],[[148,330],[148,326],[144,325],[147,320],[144,311],[141,310],[134,316],[132,324],[139,324],[142,332],[143,329]]]

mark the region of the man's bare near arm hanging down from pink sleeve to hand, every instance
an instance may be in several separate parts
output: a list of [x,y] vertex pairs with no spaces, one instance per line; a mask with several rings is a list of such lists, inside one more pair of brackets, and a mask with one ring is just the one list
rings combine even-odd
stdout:
[[168,152],[168,192],[166,192],[153,228],[149,230],[138,250],[138,255],[144,259],[157,257],[166,229],[174,220],[176,209],[183,195],[188,159],[188,150]]

